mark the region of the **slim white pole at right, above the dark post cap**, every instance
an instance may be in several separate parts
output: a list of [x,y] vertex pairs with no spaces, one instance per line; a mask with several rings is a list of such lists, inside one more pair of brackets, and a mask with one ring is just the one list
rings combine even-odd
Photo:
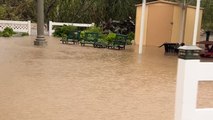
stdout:
[[197,32],[198,32],[199,18],[200,18],[200,2],[201,2],[201,0],[197,0],[195,24],[194,24],[194,35],[193,35],[192,45],[196,45],[196,42],[197,42]]

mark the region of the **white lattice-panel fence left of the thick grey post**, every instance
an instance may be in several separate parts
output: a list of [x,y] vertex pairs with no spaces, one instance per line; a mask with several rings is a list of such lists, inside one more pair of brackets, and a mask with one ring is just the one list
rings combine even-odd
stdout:
[[0,20],[0,31],[10,27],[14,32],[26,32],[31,35],[31,21]]

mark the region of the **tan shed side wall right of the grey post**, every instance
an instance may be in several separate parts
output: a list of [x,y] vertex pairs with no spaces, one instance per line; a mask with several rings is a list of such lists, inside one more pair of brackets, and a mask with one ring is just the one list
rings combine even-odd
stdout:
[[[195,22],[195,12],[196,12],[195,9],[187,8],[186,27],[185,27],[185,36],[184,36],[184,43],[186,45],[192,45],[194,22]],[[197,34],[198,35],[197,41],[200,39],[201,22],[202,22],[202,10],[200,11],[200,21],[199,21],[199,28],[198,28],[198,34]]]

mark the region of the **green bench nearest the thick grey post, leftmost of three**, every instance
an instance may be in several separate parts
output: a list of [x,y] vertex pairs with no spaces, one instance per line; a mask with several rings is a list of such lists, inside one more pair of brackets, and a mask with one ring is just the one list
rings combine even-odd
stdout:
[[80,34],[81,34],[80,31],[69,32],[67,35],[62,37],[61,41],[63,44],[64,43],[67,44],[69,42],[72,42],[73,44],[77,44],[80,41]]

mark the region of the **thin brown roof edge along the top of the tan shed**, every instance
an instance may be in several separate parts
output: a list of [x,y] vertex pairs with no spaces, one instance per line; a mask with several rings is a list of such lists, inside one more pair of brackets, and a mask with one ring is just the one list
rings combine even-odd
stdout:
[[[180,5],[178,2],[170,2],[170,1],[165,1],[165,0],[158,0],[158,1],[148,2],[148,3],[146,3],[146,5],[152,5],[152,4],[158,4],[158,3],[170,4],[170,5],[175,5],[175,6],[179,6]],[[135,6],[136,7],[142,6],[142,4],[136,4]],[[196,6],[188,5],[188,7],[196,9]],[[200,9],[203,10],[204,8],[200,8]]]

